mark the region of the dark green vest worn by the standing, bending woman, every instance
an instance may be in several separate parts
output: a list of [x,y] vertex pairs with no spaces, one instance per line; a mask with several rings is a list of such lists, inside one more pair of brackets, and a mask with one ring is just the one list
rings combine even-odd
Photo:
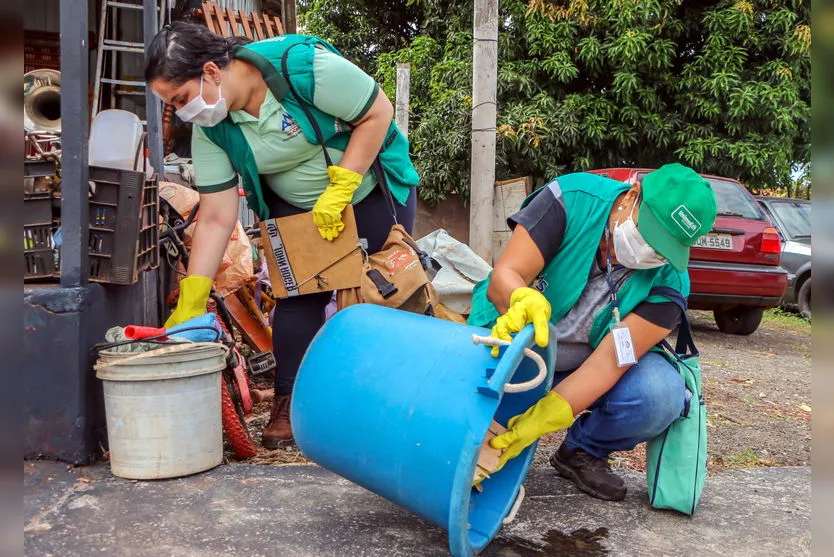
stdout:
[[[319,144],[315,127],[307,117],[309,113],[321,130],[324,144],[327,147],[344,151],[350,140],[350,123],[334,118],[313,105],[315,89],[313,56],[316,45],[321,45],[341,55],[332,45],[317,37],[281,35],[239,46],[235,49],[234,57],[249,62],[260,70],[273,96],[298,123],[307,141],[314,145]],[[298,96],[290,90],[285,75],[292,80],[292,87]],[[365,107],[366,110],[376,99],[376,91],[378,89],[375,89],[374,94],[371,95],[369,105]],[[235,171],[240,174],[249,208],[259,218],[269,218],[269,208],[264,202],[262,193],[262,188],[267,186],[261,182],[255,156],[240,127],[227,117],[216,126],[203,128],[203,131],[211,141],[226,152]],[[382,143],[379,160],[391,193],[400,204],[405,205],[409,190],[417,185],[419,177],[408,156],[408,141],[393,121]]]

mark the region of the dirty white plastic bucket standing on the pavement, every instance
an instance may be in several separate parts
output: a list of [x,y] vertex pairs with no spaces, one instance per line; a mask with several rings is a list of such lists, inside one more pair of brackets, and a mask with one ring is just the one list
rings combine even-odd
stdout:
[[191,343],[142,354],[102,351],[110,467],[130,479],[175,478],[223,459],[221,371],[227,349]]

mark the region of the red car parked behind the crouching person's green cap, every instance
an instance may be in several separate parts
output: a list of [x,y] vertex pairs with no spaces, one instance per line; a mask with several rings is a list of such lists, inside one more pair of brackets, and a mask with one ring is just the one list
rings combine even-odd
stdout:
[[[593,174],[633,184],[651,168],[605,168]],[[749,335],[776,307],[788,275],[779,266],[782,242],[756,199],[738,180],[702,174],[715,192],[718,217],[689,259],[690,309],[712,310],[725,333]]]

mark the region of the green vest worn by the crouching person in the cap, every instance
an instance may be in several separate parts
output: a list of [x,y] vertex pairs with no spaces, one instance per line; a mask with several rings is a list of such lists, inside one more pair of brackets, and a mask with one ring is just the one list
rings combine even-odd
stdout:
[[[522,207],[526,207],[545,188],[554,188],[557,192],[561,189],[565,203],[567,223],[562,245],[556,257],[542,270],[535,285],[550,302],[552,323],[562,319],[579,300],[614,200],[629,187],[616,180],[582,172],[560,176],[524,201]],[[498,318],[498,310],[486,296],[489,280],[490,277],[487,277],[475,285],[470,325],[491,327]],[[635,270],[617,292],[623,317],[644,301],[680,303],[687,296],[689,275],[678,273],[671,265]],[[609,302],[594,318],[590,334],[593,348],[602,342],[614,322],[612,310],[613,305]]]

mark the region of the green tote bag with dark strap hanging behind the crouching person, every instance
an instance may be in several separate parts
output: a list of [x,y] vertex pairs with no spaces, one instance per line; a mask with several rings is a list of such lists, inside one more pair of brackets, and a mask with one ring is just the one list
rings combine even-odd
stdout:
[[666,431],[646,443],[646,483],[655,509],[672,509],[691,515],[698,506],[707,472],[707,414],[701,393],[700,354],[683,312],[673,355],[687,390],[681,416]]

